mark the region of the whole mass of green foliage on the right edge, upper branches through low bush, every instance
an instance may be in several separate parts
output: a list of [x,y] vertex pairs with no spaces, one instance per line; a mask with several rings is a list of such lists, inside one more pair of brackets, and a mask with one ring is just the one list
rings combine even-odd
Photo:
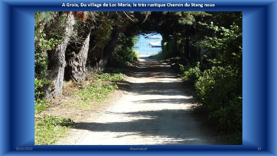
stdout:
[[220,128],[229,133],[242,133],[242,29],[232,25],[231,29],[207,25],[219,33],[206,37],[207,46],[218,51],[217,58],[210,60],[211,69],[195,83],[196,95]]

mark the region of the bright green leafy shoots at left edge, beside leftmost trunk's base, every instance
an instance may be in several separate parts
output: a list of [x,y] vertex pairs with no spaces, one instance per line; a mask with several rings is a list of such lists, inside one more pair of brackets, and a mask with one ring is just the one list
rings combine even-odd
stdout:
[[46,107],[49,106],[51,103],[45,98],[40,97],[44,94],[44,92],[41,91],[41,88],[44,84],[47,83],[50,83],[50,80],[35,78],[35,114],[39,114],[40,112],[45,111]]

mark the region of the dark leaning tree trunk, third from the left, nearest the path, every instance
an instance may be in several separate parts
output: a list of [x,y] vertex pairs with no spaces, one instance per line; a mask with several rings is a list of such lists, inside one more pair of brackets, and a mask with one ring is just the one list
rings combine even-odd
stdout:
[[102,70],[102,68],[104,68],[107,65],[108,59],[109,59],[111,53],[115,50],[115,46],[116,46],[116,42],[117,42],[117,39],[118,39],[118,36],[119,36],[119,32],[120,32],[120,28],[118,26],[115,26],[113,28],[111,40],[109,40],[108,44],[105,46],[102,58],[98,62],[98,67],[97,68],[99,70]]

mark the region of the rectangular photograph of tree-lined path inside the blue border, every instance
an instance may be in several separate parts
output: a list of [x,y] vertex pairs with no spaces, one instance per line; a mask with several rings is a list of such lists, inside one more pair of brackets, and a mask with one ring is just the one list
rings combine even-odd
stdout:
[[241,145],[242,12],[35,12],[35,144]]

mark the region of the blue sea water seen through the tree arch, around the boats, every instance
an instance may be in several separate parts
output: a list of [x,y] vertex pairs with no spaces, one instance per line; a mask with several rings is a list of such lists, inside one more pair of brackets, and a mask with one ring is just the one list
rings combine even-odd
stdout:
[[[147,36],[151,36],[152,34],[146,34]],[[154,36],[161,36],[160,34],[155,34]],[[161,47],[151,47],[148,42],[162,41],[160,39],[146,39],[143,35],[139,35],[139,41],[135,44],[134,50],[138,51],[141,55],[153,55],[162,50]]]

